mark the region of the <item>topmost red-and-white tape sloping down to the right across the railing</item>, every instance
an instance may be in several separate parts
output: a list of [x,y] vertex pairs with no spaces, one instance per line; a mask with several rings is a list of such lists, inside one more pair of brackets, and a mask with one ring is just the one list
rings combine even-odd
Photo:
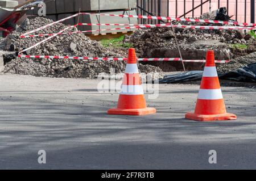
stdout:
[[139,18],[139,19],[155,19],[155,20],[172,20],[181,22],[201,22],[201,23],[218,23],[218,24],[234,24],[239,26],[256,26],[256,23],[238,23],[232,21],[220,21],[220,20],[209,20],[209,19],[193,19],[193,18],[173,18],[166,16],[145,16],[145,15],[116,15],[116,14],[90,14],[86,12],[80,12],[85,15],[101,15],[101,16],[118,16],[121,18]]

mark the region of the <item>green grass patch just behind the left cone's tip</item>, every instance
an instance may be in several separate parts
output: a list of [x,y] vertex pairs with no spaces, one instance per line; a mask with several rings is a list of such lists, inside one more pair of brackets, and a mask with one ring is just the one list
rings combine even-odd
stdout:
[[132,48],[133,45],[130,43],[123,43],[125,36],[120,36],[114,39],[102,39],[100,42],[104,47],[114,47],[114,48]]

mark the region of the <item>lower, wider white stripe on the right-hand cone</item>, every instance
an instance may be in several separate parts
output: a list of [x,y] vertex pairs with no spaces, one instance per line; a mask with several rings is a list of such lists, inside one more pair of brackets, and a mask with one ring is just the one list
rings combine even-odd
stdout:
[[198,99],[216,100],[223,99],[221,89],[200,89]]

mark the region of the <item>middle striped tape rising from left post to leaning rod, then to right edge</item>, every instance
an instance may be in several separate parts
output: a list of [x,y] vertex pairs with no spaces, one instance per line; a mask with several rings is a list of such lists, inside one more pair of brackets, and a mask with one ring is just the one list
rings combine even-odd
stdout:
[[[82,23],[82,24],[90,24],[90,23]],[[78,26],[79,24],[77,24]],[[98,24],[92,24],[98,25]],[[101,24],[105,25],[105,24]],[[122,26],[118,24],[116,26]],[[126,25],[123,25],[126,26]],[[129,26],[129,25],[127,25]],[[112,30],[127,30],[133,28],[152,28],[152,27],[172,27],[170,23],[166,24],[144,24],[138,26],[131,26],[131,27],[122,27],[122,28],[110,28],[110,29],[103,29],[103,30],[86,30],[86,31],[74,31],[74,32],[65,32],[65,33],[48,33],[48,34],[38,34],[38,35],[22,35],[20,38],[26,37],[43,37],[43,36],[53,36],[53,35],[65,35],[65,34],[73,34],[73,33],[86,33],[86,32],[104,32],[104,31],[112,31]],[[188,25],[173,25],[175,28],[191,28],[191,29],[200,29],[200,30],[256,30],[256,27],[235,27],[235,26],[188,26]]]

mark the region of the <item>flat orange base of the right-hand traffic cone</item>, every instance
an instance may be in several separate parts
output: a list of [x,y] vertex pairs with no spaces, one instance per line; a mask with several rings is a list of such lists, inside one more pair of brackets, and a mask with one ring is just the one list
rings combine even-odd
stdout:
[[187,113],[185,118],[195,121],[226,121],[236,120],[237,116],[233,113],[224,113],[220,115],[197,115],[196,113]]

